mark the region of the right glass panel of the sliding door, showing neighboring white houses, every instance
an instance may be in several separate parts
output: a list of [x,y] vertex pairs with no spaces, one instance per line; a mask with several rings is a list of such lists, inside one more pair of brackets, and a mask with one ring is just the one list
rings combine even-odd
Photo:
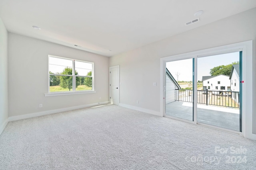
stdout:
[[197,122],[234,131],[240,129],[240,55],[242,52],[197,60]]

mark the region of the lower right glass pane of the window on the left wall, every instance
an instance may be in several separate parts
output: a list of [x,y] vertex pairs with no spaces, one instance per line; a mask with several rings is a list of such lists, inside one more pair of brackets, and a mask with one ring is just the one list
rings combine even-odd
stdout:
[[92,90],[92,77],[76,76],[76,91]]

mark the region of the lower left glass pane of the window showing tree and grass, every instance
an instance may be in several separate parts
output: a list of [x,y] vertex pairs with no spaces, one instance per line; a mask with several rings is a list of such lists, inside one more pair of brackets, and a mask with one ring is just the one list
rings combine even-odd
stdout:
[[72,76],[50,75],[50,92],[72,91]]

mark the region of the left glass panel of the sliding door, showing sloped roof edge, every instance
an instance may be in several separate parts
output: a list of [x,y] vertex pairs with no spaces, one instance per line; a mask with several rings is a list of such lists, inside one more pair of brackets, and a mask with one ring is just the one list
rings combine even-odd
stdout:
[[166,115],[193,121],[194,59],[166,63]]

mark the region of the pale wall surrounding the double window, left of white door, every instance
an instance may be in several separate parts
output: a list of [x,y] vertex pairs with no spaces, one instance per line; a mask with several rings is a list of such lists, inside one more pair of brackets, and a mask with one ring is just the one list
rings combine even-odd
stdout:
[[[48,55],[94,62],[97,92],[45,97],[48,93]],[[109,57],[9,33],[9,117],[108,101],[108,64]],[[43,107],[39,108],[39,104]]]

